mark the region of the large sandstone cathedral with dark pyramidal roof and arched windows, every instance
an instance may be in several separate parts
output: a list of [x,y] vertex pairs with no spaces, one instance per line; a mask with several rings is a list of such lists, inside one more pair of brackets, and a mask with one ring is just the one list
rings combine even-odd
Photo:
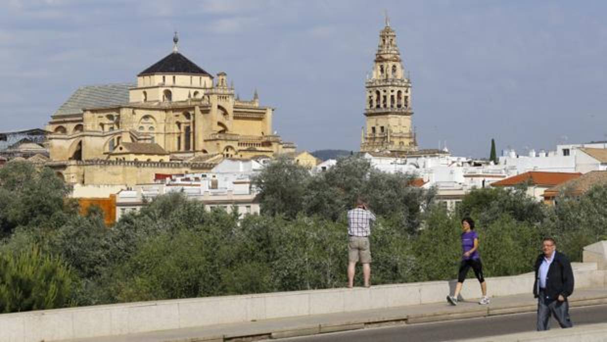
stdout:
[[178,52],[177,33],[173,41],[136,84],[81,87],[52,115],[49,166],[71,183],[132,184],[295,151],[273,134],[273,108],[257,91],[240,100],[225,72],[214,77]]

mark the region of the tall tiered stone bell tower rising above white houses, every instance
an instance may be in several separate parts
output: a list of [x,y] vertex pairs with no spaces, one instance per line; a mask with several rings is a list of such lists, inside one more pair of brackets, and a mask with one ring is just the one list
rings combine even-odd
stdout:
[[367,94],[361,151],[417,151],[412,128],[411,81],[405,77],[396,32],[388,16],[379,32],[379,45],[371,77],[365,82]]

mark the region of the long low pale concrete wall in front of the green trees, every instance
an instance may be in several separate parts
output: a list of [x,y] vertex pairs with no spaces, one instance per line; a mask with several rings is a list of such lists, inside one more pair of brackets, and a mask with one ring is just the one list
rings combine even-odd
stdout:
[[[575,264],[577,288],[605,287],[607,271],[595,263]],[[486,278],[489,294],[531,293],[533,275]],[[478,283],[469,279],[464,298],[480,296]],[[328,289],[258,295],[174,299],[41,310],[0,315],[0,341],[38,342],[100,337],[125,333],[179,329],[209,324],[351,312],[445,300],[455,281],[415,282],[373,286],[370,289]]]

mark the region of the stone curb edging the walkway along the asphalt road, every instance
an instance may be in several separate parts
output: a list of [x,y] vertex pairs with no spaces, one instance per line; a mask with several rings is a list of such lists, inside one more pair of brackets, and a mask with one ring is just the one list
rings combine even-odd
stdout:
[[[578,298],[569,302],[571,307],[584,307],[607,304],[607,296],[602,298]],[[535,312],[537,305],[521,303],[521,305],[501,306],[501,307],[481,307],[479,309],[469,309],[464,312],[453,312],[453,310],[443,310],[439,312],[426,313],[421,315],[387,315],[376,318],[365,318],[362,320],[344,320],[340,323],[311,324],[307,326],[287,328],[284,330],[273,330],[249,335],[229,334],[223,336],[200,337],[200,338],[181,338],[175,340],[165,340],[164,342],[225,342],[225,341],[261,341],[261,340],[279,340],[282,338],[302,337],[319,335],[322,333],[342,332],[350,330],[362,330],[377,327],[407,326],[418,323],[430,323],[437,321],[463,320],[466,318],[480,318],[497,315],[509,315],[512,313]]]

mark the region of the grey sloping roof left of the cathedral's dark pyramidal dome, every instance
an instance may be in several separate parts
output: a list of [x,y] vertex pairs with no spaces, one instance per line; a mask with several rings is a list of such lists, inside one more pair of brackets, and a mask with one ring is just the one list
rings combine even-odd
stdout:
[[85,108],[104,108],[128,103],[129,87],[134,86],[132,83],[115,83],[80,87],[61,104],[53,116],[82,114]]

